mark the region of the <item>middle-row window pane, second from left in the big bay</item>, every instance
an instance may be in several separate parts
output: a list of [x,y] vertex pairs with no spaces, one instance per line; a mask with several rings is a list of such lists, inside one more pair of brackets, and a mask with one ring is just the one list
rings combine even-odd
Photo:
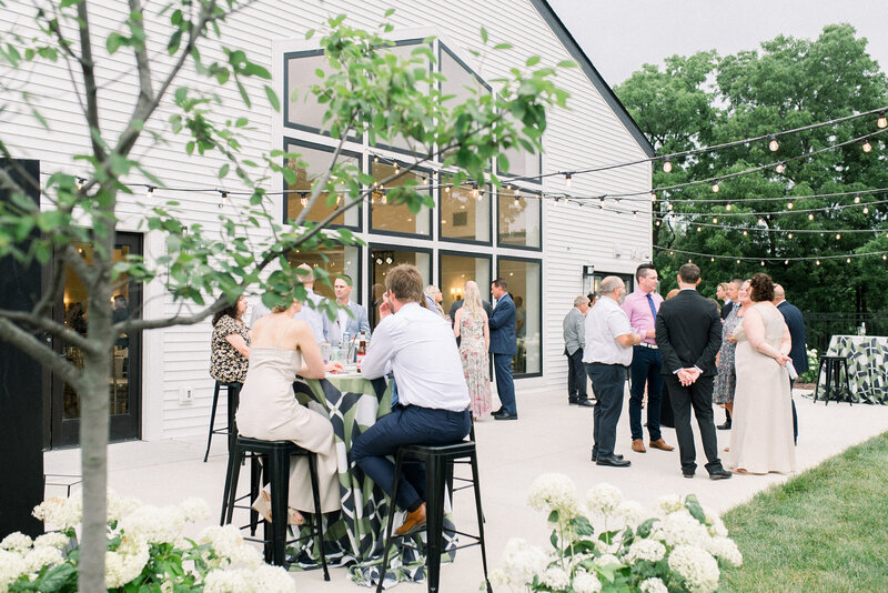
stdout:
[[[389,201],[386,187],[382,182],[391,175],[394,175],[400,168],[400,163],[376,162],[376,159],[373,159],[371,172],[377,185],[371,193],[370,228],[373,231],[393,234],[420,234],[430,237],[432,220],[431,209],[423,208],[414,214],[410,211],[407,204],[395,204]],[[417,188],[418,191],[428,192],[428,187],[431,187],[430,178],[431,174],[427,172],[414,171],[390,182],[389,188],[404,185],[408,181],[413,181],[417,185],[425,185],[424,189]]]

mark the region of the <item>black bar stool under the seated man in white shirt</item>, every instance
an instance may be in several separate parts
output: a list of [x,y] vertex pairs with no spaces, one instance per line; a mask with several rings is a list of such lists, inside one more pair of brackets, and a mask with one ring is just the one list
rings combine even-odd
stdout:
[[[382,592],[385,572],[389,567],[389,549],[392,544],[392,526],[395,516],[395,502],[397,500],[397,482],[404,463],[425,463],[425,506],[426,506],[426,554],[425,562],[428,571],[428,592],[438,592],[441,577],[441,553],[444,532],[444,488],[447,485],[447,475],[453,472],[453,462],[467,459],[472,465],[472,482],[475,490],[475,510],[478,515],[478,534],[457,534],[474,540],[472,543],[458,545],[454,550],[462,550],[472,545],[481,546],[481,562],[484,566],[484,581],[487,593],[493,593],[491,581],[487,577],[487,550],[484,545],[484,513],[481,509],[481,486],[478,484],[478,460],[474,441],[460,441],[447,445],[406,445],[397,450],[395,458],[395,485],[389,506],[389,521],[385,527],[385,544],[383,546],[382,567],[376,593]],[[407,534],[412,535],[412,534]]]

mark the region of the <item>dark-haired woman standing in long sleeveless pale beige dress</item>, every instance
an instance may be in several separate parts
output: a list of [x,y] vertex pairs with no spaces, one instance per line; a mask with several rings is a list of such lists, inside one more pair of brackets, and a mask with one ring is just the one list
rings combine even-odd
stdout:
[[771,304],[774,282],[768,274],[753,277],[749,299],[753,306],[734,333],[737,386],[727,466],[737,473],[790,473],[796,471],[796,450],[786,369],[789,329]]

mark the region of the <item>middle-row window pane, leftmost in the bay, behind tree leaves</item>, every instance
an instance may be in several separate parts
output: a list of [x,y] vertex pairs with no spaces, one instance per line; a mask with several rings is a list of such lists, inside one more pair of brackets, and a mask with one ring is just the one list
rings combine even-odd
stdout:
[[[330,162],[333,159],[333,149],[320,144],[287,142],[286,150],[287,152],[296,152],[300,154],[297,160],[290,159],[286,162],[286,167],[296,173],[296,181],[292,185],[284,181],[284,190],[286,191],[286,200],[284,200],[284,220],[290,220],[299,217],[300,213],[309,207],[312,185],[315,179],[330,168]],[[357,172],[361,167],[361,160],[356,153],[340,153],[339,162],[353,168],[355,172]],[[326,220],[330,214],[342,207],[344,200],[352,199],[344,185],[337,184],[336,190],[335,194],[322,192],[312,204],[305,220],[311,222]],[[342,224],[354,228],[360,227],[361,205],[355,205],[344,213],[339,214],[332,220],[331,224]]]

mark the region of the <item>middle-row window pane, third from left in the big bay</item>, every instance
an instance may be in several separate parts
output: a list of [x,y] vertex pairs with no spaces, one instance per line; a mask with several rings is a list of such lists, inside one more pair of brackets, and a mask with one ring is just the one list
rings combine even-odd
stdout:
[[441,175],[441,209],[438,233],[441,239],[491,242],[491,187],[453,185],[451,178]]

